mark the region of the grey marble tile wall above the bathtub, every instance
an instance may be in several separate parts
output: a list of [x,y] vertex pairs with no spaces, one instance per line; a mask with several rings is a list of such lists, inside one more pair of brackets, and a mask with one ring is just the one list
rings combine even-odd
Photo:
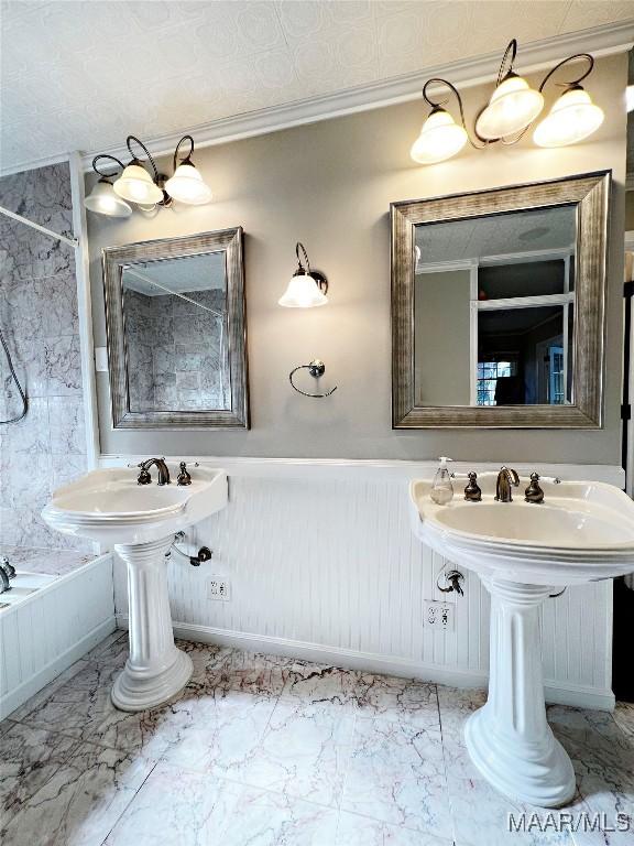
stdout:
[[[67,163],[0,178],[0,205],[72,235]],[[67,246],[0,217],[0,326],[29,413],[0,425],[0,546],[86,547],[47,529],[54,488],[86,469],[75,257]],[[0,420],[20,398],[0,350]]]

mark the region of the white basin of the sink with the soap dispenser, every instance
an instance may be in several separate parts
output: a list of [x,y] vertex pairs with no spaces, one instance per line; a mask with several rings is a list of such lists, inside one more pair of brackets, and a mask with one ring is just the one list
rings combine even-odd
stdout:
[[466,502],[457,484],[446,506],[429,499],[430,481],[409,488],[414,531],[455,564],[524,584],[566,586],[634,570],[634,502],[598,481],[540,481],[542,505],[494,500],[498,474],[478,477],[481,502]]

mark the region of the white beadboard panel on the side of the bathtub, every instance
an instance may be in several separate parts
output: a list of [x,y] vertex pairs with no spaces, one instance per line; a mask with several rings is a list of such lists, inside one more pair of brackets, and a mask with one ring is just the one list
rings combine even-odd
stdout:
[[0,719],[116,629],[112,556],[0,611]]

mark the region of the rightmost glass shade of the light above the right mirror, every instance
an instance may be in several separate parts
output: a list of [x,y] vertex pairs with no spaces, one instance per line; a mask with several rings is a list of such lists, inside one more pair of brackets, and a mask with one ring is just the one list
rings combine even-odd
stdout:
[[537,147],[566,147],[591,135],[603,123],[603,109],[595,106],[588,91],[570,88],[553,104],[539,123],[533,141]]

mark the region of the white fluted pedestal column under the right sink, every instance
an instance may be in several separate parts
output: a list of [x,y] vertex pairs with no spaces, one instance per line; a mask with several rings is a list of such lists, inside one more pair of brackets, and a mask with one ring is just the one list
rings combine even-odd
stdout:
[[575,771],[546,720],[539,607],[554,588],[484,578],[491,594],[487,704],[466,724],[471,760],[511,799],[557,807],[572,799]]

